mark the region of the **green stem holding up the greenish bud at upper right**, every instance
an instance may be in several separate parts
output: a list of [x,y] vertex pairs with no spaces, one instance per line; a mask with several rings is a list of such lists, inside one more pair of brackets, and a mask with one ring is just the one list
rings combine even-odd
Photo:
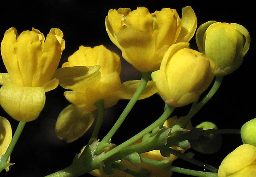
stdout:
[[208,94],[195,106],[195,104],[192,105],[192,108],[189,112],[189,114],[185,117],[183,117],[183,120],[181,120],[178,124],[181,127],[186,127],[189,120],[206,104],[206,102],[209,101],[209,99],[217,92],[219,89],[221,83],[223,80],[223,76],[216,76],[214,85],[208,92]]

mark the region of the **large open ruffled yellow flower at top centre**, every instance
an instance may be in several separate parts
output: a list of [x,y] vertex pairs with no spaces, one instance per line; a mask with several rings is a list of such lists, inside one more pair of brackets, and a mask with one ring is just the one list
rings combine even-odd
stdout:
[[197,18],[190,6],[182,9],[182,19],[175,9],[164,8],[149,13],[145,7],[111,9],[106,30],[123,58],[142,72],[160,67],[164,53],[174,43],[188,42],[195,33]]

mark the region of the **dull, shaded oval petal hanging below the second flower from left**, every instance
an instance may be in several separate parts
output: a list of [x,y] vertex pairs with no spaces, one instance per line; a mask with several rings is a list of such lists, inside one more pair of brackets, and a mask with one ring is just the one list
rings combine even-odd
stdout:
[[59,114],[55,131],[60,139],[70,143],[84,135],[93,121],[93,114],[86,111],[84,107],[69,105]]

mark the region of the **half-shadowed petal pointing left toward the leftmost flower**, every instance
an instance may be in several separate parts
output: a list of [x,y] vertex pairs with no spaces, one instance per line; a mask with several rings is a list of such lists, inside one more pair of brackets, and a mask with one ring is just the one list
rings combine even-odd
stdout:
[[53,78],[59,80],[63,88],[85,92],[87,87],[95,88],[101,80],[100,66],[73,66],[56,70]]

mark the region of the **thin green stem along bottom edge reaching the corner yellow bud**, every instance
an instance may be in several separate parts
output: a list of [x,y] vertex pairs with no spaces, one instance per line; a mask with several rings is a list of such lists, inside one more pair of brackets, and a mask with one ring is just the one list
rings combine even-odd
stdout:
[[150,158],[140,157],[141,161],[159,168],[163,168],[165,170],[170,170],[177,173],[182,173],[190,176],[199,176],[199,177],[218,177],[218,173],[211,173],[211,172],[202,172],[202,171],[196,171],[196,170],[189,170],[184,168],[175,167],[166,163],[163,163],[162,161],[153,160]]

